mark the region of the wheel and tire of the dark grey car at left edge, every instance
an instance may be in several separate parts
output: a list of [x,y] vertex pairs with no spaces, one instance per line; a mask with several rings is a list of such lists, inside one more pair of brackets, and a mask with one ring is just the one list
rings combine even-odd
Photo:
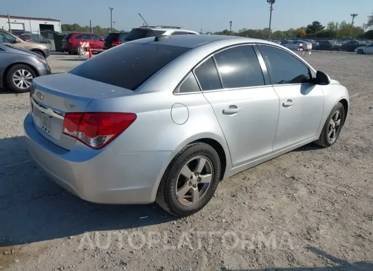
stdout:
[[7,73],[7,84],[15,93],[30,92],[32,79],[36,77],[31,67],[18,64],[12,66]]

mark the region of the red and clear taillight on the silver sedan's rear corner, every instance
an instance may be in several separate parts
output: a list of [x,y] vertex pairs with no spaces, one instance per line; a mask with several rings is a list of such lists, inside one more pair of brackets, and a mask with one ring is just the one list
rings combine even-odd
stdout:
[[62,132],[93,149],[101,149],[135,120],[133,113],[66,113]]

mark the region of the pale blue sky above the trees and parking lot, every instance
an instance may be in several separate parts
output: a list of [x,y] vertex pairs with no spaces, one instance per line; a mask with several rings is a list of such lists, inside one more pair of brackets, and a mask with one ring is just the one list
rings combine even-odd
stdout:
[[[180,26],[199,32],[215,32],[242,28],[263,29],[269,25],[269,4],[266,0],[0,0],[0,14],[60,19],[62,24],[110,27],[110,10],[115,29],[129,31],[142,26],[141,13],[149,25]],[[275,30],[307,26],[318,20],[351,22],[361,26],[373,11],[371,0],[276,0],[272,25]]]

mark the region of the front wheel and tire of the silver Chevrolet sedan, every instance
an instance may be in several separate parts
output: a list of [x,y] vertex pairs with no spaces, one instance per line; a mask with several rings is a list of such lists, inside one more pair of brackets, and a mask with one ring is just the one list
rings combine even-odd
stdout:
[[314,143],[324,148],[336,143],[343,127],[344,119],[344,107],[341,103],[337,103],[330,112],[324,127],[322,127],[320,138],[314,141]]

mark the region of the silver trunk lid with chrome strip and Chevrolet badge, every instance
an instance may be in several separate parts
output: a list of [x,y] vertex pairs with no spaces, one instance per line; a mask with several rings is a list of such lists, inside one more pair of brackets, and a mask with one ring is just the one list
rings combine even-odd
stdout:
[[62,133],[65,114],[84,112],[92,100],[121,93],[132,91],[69,73],[35,78],[30,93],[35,127],[46,139],[70,150],[76,139]]

